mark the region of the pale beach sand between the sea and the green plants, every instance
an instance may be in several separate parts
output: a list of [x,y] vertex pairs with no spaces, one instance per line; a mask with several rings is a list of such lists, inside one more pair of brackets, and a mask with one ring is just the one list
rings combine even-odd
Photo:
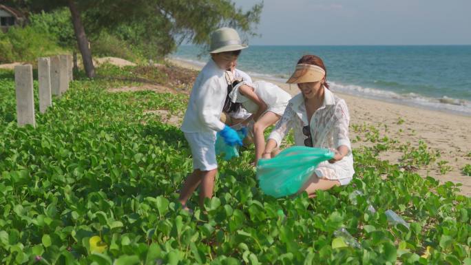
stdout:
[[[187,61],[167,60],[180,67],[193,70],[201,69],[200,65]],[[254,81],[262,79],[256,76],[251,77]],[[290,87],[284,83],[267,81],[279,85],[291,95],[299,92],[295,85]],[[423,140],[429,147],[428,152],[440,155],[429,165],[418,167],[417,173],[421,176],[431,176],[441,182],[461,183],[463,184],[460,187],[461,194],[471,195],[471,176],[465,176],[462,172],[465,165],[471,164],[471,117],[333,92],[340,98],[344,98],[348,105],[350,140],[353,140],[353,148],[375,145],[373,142],[364,142],[365,131],[353,129],[355,125],[366,125],[366,128],[373,126],[379,129],[379,138],[388,136],[388,138],[397,140],[396,147],[407,145],[410,142],[411,147],[417,148],[419,140]],[[355,142],[354,139],[357,136],[362,140]],[[388,160],[392,164],[399,163],[401,156],[403,153],[399,151],[399,148],[379,153],[379,158]],[[440,166],[440,161],[447,162],[443,162],[443,165]],[[448,170],[442,174],[440,168]]]

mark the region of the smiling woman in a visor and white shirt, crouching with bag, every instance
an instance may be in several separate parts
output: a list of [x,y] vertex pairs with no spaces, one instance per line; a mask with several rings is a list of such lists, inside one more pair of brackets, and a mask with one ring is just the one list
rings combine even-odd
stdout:
[[310,198],[315,191],[346,185],[352,178],[353,156],[348,138],[350,116],[345,100],[335,96],[326,82],[326,67],[315,55],[305,55],[286,83],[297,84],[300,94],[294,96],[271,132],[263,158],[271,158],[290,129],[295,133],[295,145],[332,149],[335,156],[320,163],[313,176],[303,185]]

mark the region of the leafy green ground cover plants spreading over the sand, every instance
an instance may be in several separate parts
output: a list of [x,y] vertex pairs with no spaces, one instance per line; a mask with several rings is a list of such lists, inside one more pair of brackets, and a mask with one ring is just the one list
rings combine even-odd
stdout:
[[407,170],[436,160],[423,142],[397,147],[401,165],[380,160],[395,141],[379,129],[357,139],[369,145],[353,151],[346,187],[271,198],[258,189],[246,149],[220,160],[205,209],[193,196],[194,215],[181,211],[189,147],[178,127],[145,111],[181,115],[187,95],[108,93],[139,85],[109,78],[124,71],[77,75],[34,129],[17,127],[14,75],[1,70],[2,264],[471,264],[470,198],[459,184]]

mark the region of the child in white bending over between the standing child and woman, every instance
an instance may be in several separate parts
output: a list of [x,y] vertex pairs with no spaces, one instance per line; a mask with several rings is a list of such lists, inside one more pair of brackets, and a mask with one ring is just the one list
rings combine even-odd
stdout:
[[224,112],[237,112],[240,107],[244,107],[252,114],[242,122],[242,125],[247,125],[251,120],[255,122],[253,124],[255,165],[262,158],[265,149],[265,129],[280,120],[290,99],[290,94],[272,83],[234,81],[233,89],[228,93],[224,104]]

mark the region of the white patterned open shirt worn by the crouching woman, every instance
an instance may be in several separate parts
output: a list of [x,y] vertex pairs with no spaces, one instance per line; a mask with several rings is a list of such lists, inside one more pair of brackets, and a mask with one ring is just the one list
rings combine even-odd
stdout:
[[275,129],[271,132],[269,139],[273,139],[280,146],[282,139],[294,129],[295,145],[304,146],[304,136],[302,128],[309,124],[313,147],[337,149],[341,145],[348,147],[348,153],[342,160],[330,164],[328,161],[320,163],[319,167],[329,167],[339,173],[337,178],[352,178],[353,155],[348,138],[348,126],[350,114],[345,100],[335,96],[329,89],[324,89],[324,101],[317,109],[308,123],[304,96],[302,93],[294,96],[285,109],[285,112],[278,121]]

